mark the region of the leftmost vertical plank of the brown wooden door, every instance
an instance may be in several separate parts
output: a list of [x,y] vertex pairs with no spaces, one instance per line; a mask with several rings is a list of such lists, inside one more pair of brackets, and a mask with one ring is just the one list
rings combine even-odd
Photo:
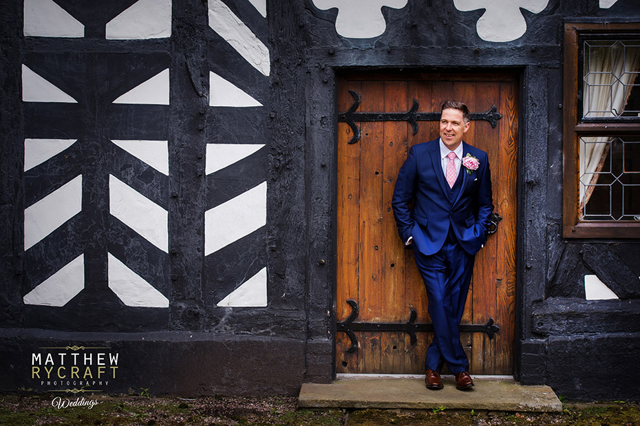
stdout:
[[[338,81],[338,109],[351,105],[349,89],[360,91],[356,81]],[[352,130],[346,123],[338,123],[337,138],[337,289],[336,319],[344,321],[351,313],[347,299],[358,299],[359,239],[360,239],[360,146],[349,145]],[[346,352],[351,339],[344,332],[336,335],[336,371],[354,373],[358,371],[359,352]]]

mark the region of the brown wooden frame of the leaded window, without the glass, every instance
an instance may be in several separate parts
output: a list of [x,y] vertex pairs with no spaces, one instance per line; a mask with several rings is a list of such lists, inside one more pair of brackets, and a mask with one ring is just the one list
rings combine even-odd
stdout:
[[640,136],[640,120],[579,117],[582,111],[583,58],[585,36],[633,34],[640,38],[640,22],[564,24],[563,100],[563,223],[565,238],[640,238],[640,221],[579,219],[579,138],[585,136]]

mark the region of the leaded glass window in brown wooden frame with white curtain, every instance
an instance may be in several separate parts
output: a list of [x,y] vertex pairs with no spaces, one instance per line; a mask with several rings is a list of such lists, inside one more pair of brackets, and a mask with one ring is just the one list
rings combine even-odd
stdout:
[[640,237],[640,23],[564,27],[565,237]]

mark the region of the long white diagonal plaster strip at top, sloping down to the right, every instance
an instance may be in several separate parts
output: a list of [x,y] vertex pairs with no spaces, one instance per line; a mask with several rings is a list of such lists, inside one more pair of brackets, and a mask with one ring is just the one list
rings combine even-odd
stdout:
[[265,76],[270,72],[269,50],[222,0],[209,0],[209,26],[248,63]]

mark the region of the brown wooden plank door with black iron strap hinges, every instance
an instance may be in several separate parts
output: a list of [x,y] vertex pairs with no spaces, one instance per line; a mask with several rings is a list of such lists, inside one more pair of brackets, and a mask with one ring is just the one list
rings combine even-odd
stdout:
[[[337,86],[338,111],[348,111],[357,92],[356,112],[406,112],[418,100],[418,112],[440,112],[447,99],[467,103],[471,112],[495,105],[502,118],[495,128],[473,120],[465,142],[489,154],[493,204],[502,217],[476,255],[473,281],[462,324],[485,324],[493,318],[500,330],[491,339],[477,331],[461,332],[471,374],[513,374],[515,325],[516,160],[518,85],[511,74],[350,74]],[[340,122],[337,138],[337,300],[336,365],[339,373],[421,374],[432,333],[417,332],[412,344],[404,331],[378,331],[407,323],[428,328],[427,295],[396,231],[391,199],[409,147],[438,138],[438,120],[418,122],[418,132],[404,121],[356,123],[360,138]],[[351,299],[353,302],[348,302]],[[350,304],[351,303],[351,304]],[[353,306],[357,306],[354,318]],[[350,317],[351,316],[351,317]],[[354,340],[345,331],[345,323]],[[464,327],[464,326],[463,326]],[[355,349],[355,350],[354,350]]]

